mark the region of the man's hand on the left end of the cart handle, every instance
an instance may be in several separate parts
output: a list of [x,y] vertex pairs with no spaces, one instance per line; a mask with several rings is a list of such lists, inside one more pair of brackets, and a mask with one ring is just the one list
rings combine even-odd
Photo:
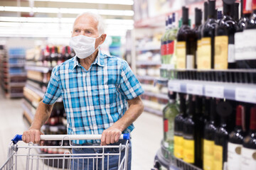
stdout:
[[30,128],[29,130],[23,132],[22,140],[26,143],[33,142],[38,144],[40,142],[40,135],[43,135],[43,132]]

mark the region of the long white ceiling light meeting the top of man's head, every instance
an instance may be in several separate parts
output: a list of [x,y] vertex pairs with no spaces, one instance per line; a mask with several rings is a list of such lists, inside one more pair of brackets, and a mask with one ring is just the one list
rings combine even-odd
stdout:
[[0,11],[11,12],[31,12],[34,13],[83,13],[90,11],[106,16],[134,16],[131,10],[110,10],[110,9],[90,9],[90,8],[43,8],[43,7],[17,7],[17,6],[0,6]]

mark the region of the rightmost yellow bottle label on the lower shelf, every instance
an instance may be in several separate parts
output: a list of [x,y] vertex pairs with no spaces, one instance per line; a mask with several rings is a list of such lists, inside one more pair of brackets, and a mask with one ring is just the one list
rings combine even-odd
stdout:
[[223,147],[220,145],[213,147],[213,167],[215,170],[223,170]]

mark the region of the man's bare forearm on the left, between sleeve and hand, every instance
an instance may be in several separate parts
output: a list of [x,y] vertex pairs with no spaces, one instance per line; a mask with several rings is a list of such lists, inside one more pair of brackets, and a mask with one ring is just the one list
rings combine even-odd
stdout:
[[46,120],[50,117],[53,106],[47,105],[41,101],[36,109],[36,115],[33,119],[31,128],[40,130],[42,125],[46,123]]

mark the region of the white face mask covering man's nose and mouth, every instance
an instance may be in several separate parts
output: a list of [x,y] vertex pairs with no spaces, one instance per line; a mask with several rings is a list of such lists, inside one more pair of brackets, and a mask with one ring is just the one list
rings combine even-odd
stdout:
[[[97,38],[100,38],[100,36]],[[97,50],[98,47],[95,49],[95,41],[97,38],[78,35],[70,38],[70,47],[73,48],[78,58],[85,59],[86,57],[92,55],[95,50]]]

